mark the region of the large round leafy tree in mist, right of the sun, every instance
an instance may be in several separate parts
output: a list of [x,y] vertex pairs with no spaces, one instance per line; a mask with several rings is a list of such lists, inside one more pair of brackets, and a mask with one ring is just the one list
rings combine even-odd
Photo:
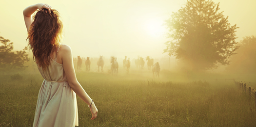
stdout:
[[188,0],[184,7],[165,21],[169,29],[164,52],[176,56],[193,70],[229,64],[236,47],[236,25],[219,12],[212,0]]

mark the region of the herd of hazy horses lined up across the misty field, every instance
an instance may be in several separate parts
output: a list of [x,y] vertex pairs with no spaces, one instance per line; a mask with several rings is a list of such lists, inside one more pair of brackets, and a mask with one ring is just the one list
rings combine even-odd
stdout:
[[[127,59],[127,56],[124,56],[124,60],[123,60],[123,68],[126,68],[126,72],[129,73],[130,72],[130,66],[131,66],[131,61],[130,58]],[[155,63],[154,64],[154,59],[150,59],[149,56],[146,57],[146,61],[147,61],[147,66],[148,66],[148,70],[151,70],[152,68],[152,72],[154,76],[157,76],[159,78],[159,72],[160,72],[160,65],[159,63]],[[139,69],[143,69],[144,68],[144,64],[145,61],[143,60],[142,57],[138,57],[138,59],[135,60],[135,65],[137,68]],[[97,65],[98,65],[98,71],[103,72],[103,66],[104,66],[104,60],[103,60],[103,56],[99,56],[99,59],[97,61]],[[82,59],[80,56],[78,56],[78,61],[77,61],[77,69],[80,71],[81,70],[81,66],[82,66]],[[90,66],[91,66],[91,61],[90,61],[90,57],[87,57],[87,59],[85,60],[85,66],[86,66],[86,71],[90,71]],[[118,62],[117,62],[117,58],[112,56],[110,59],[110,73],[112,75],[117,75],[118,74]]]

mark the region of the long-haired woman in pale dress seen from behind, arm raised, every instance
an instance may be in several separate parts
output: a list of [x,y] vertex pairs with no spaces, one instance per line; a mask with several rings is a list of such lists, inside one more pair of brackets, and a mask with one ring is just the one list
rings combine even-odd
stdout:
[[[34,19],[32,14],[37,11]],[[29,46],[44,78],[39,90],[33,127],[78,126],[76,94],[88,105],[92,120],[98,109],[79,84],[71,48],[60,44],[62,22],[59,13],[48,4],[38,3],[23,11]]]

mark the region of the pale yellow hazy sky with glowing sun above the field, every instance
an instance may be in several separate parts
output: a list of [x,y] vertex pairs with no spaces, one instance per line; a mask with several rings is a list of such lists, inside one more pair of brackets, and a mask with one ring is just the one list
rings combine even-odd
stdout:
[[[256,35],[256,0],[213,0],[220,11],[237,25],[236,35]],[[165,27],[162,23],[186,0],[0,0],[0,36],[14,42],[21,50],[26,43],[22,11],[35,3],[47,3],[61,14],[64,24],[63,44],[73,56],[111,55],[134,58],[162,57]]]

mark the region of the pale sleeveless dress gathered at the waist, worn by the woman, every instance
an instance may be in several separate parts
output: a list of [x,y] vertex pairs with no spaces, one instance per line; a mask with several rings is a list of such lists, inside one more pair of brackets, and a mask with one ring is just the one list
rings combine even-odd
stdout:
[[[59,51],[59,49],[58,49]],[[58,54],[58,53],[57,53]],[[78,126],[78,105],[76,93],[66,80],[63,64],[51,59],[43,71],[33,127],[75,127]]]

